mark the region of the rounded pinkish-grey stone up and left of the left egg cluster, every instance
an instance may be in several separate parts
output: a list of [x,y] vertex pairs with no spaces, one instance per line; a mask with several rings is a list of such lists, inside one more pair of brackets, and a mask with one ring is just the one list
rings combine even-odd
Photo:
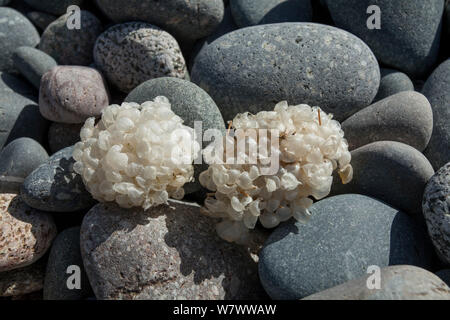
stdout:
[[107,84],[96,69],[57,66],[41,79],[39,110],[51,121],[83,123],[108,105]]

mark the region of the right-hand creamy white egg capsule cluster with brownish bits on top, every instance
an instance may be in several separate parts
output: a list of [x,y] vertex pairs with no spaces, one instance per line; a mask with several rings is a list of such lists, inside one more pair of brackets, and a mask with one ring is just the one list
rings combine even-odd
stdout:
[[[204,150],[210,166],[199,179],[205,188],[214,191],[205,200],[206,213],[223,218],[217,231],[227,241],[246,242],[249,229],[255,227],[258,219],[266,228],[291,217],[305,222],[313,203],[310,197],[319,200],[329,194],[335,169],[343,183],[352,179],[344,132],[332,115],[318,107],[280,102],[274,111],[239,114],[232,124],[236,132],[256,132],[256,137],[242,135],[246,139],[246,154],[238,157],[255,159],[250,146],[261,145],[260,140],[264,139],[264,144],[271,146],[270,154],[277,155],[278,163],[274,174],[263,174],[268,153],[259,150],[255,163],[227,162],[227,143],[236,149],[237,135],[227,135],[222,143],[212,143]],[[277,135],[267,135],[259,129],[275,129]],[[277,143],[273,144],[275,137]]]

